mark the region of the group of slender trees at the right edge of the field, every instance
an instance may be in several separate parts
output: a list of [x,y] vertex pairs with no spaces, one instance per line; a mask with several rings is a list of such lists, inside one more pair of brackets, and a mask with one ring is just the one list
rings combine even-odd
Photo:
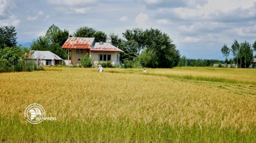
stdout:
[[232,43],[231,48],[227,47],[226,44],[221,48],[223,57],[226,57],[225,62],[227,62],[227,57],[230,52],[233,55],[233,61],[240,68],[248,68],[253,62],[253,58],[256,58],[256,55],[253,56],[253,51],[256,52],[256,41],[251,45],[249,42],[244,41],[239,43],[236,39]]

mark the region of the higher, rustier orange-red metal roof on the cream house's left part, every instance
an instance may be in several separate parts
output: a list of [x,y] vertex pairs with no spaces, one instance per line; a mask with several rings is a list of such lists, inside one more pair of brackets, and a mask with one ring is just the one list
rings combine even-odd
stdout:
[[90,49],[95,38],[69,37],[62,49]]

